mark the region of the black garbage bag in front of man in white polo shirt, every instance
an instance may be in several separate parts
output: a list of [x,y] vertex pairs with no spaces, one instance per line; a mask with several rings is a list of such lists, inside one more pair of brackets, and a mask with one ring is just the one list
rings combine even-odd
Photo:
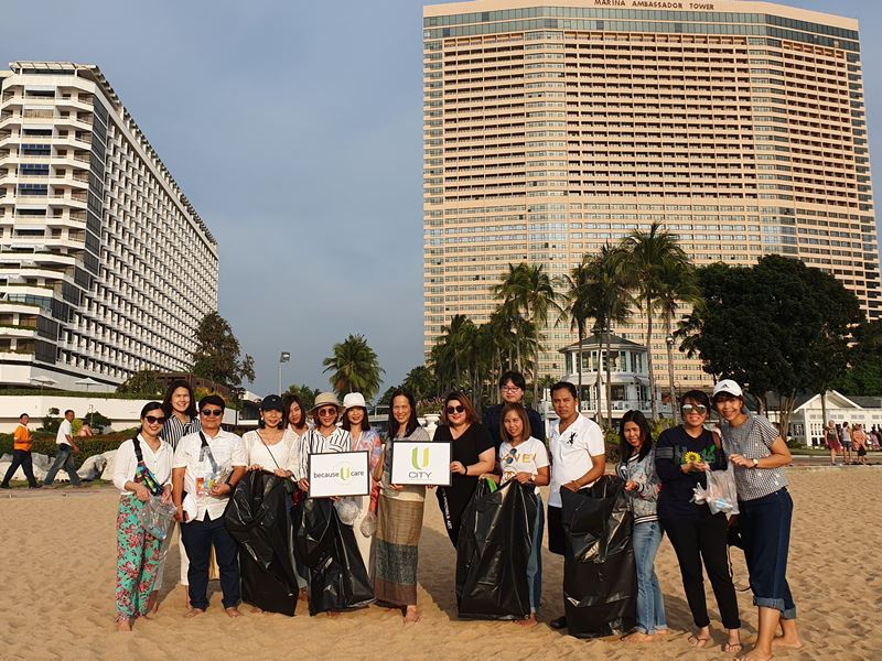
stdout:
[[605,475],[591,487],[561,488],[563,602],[577,638],[625,633],[637,620],[637,568],[632,513],[622,478]]

